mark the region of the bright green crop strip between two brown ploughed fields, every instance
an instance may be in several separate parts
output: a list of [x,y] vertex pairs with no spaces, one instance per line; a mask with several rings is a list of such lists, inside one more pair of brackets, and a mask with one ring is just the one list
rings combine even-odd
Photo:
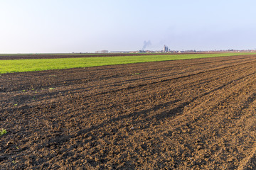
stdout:
[[185,60],[206,57],[224,57],[234,55],[255,55],[255,53],[217,53],[188,55],[139,55],[119,57],[79,57],[58,59],[0,60],[0,74],[12,72],[33,72],[50,69],[70,69],[79,67],[96,67],[113,64],[132,64],[139,62],[160,62],[168,60]]

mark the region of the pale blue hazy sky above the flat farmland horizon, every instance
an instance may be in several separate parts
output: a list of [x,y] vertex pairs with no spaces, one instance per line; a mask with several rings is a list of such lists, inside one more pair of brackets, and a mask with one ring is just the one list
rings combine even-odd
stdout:
[[0,0],[0,53],[256,49],[255,0]]

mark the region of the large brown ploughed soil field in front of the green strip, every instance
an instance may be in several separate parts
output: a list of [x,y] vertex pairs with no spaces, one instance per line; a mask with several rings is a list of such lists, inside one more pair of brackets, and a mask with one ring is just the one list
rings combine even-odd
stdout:
[[256,55],[1,74],[0,94],[0,169],[256,167]]

